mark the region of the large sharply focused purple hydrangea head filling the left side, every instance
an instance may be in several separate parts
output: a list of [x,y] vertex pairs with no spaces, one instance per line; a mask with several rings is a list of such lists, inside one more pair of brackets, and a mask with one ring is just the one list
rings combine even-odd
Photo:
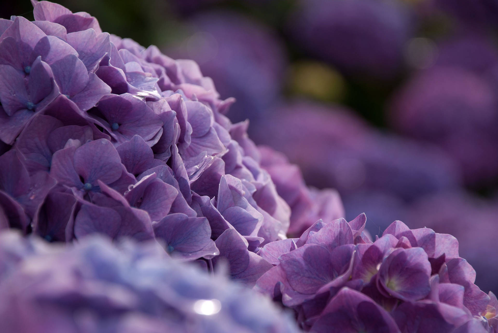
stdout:
[[[295,203],[261,168],[248,122],[224,115],[234,99],[191,60],[102,32],[88,13],[33,5],[34,22],[0,21],[0,225],[49,241],[156,238],[254,283],[271,267],[254,252],[286,237]],[[311,195],[302,180],[296,191]],[[337,194],[313,195],[322,203],[294,209],[296,232],[343,215]]]

